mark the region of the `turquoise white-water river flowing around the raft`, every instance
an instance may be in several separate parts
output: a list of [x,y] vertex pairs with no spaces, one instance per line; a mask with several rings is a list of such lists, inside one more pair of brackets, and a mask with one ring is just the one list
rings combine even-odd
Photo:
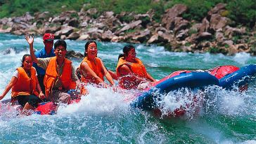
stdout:
[[[34,48],[43,48],[35,38]],[[82,52],[84,41],[66,41],[68,50]],[[115,69],[125,43],[98,43],[98,57],[108,69]],[[10,53],[6,54],[9,50]],[[136,52],[151,75],[160,80],[177,70],[210,69],[219,65],[256,64],[246,53],[235,56],[167,52],[156,45],[136,45]],[[0,93],[11,80],[20,59],[28,51],[24,36],[0,34]],[[79,61],[73,59],[74,65]],[[247,92],[206,87],[194,92],[203,97],[197,108],[184,117],[164,115],[189,103],[188,89],[166,94],[158,101],[163,115],[129,107],[136,92],[113,92],[89,86],[89,95],[80,103],[60,106],[56,115],[16,116],[0,114],[0,143],[256,143],[256,84]],[[4,99],[9,99],[10,93]],[[177,101],[179,99],[179,101]],[[199,111],[199,112],[198,112]]]

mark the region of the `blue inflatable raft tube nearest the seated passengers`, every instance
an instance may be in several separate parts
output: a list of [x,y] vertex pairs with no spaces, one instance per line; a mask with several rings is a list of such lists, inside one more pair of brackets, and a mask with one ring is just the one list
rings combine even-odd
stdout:
[[160,92],[160,94],[163,94],[181,87],[193,89],[207,85],[219,85],[219,80],[207,72],[179,73],[179,75],[172,78],[165,77],[163,80],[160,80],[158,85],[151,87],[151,89],[148,91],[137,96],[136,99],[132,101],[131,106],[134,108],[142,108],[144,110],[152,109],[155,106],[153,100],[153,94],[155,92]]

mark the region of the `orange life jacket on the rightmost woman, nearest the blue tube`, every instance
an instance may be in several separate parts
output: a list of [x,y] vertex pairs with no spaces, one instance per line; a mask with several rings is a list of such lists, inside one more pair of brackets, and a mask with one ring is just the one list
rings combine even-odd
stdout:
[[120,57],[117,63],[117,78],[119,78],[119,85],[124,89],[136,89],[137,86],[140,84],[141,80],[138,80],[130,75],[121,75],[119,72],[119,68],[122,65],[126,65],[129,69],[134,73],[134,75],[148,79],[148,73],[146,72],[146,68],[141,62],[140,59],[135,58],[136,62],[127,62],[124,57]]

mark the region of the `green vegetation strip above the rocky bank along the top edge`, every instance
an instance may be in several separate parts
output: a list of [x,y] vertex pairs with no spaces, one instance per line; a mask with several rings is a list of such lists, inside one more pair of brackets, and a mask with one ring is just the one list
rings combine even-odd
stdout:
[[[226,3],[226,11],[222,16],[230,17],[236,24],[243,24],[253,27],[256,22],[256,1],[255,0],[61,0],[61,1],[30,1],[30,0],[2,0],[0,1],[0,17],[13,17],[23,15],[25,12],[37,13],[49,11],[51,15],[57,15],[65,10],[85,10],[96,8],[101,15],[104,11],[113,11],[116,14],[121,12],[147,13],[153,10],[153,19],[160,22],[161,15],[167,8],[177,3],[188,6],[188,11],[182,16],[187,20],[200,21],[207,15],[207,12],[217,3]],[[129,17],[124,21],[129,21]]]

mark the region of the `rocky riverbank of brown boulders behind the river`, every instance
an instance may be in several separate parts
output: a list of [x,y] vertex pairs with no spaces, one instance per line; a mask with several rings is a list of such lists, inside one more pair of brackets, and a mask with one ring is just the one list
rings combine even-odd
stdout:
[[188,10],[182,4],[167,9],[161,22],[153,20],[153,10],[143,14],[107,11],[98,17],[95,8],[65,11],[56,16],[47,11],[34,15],[26,13],[21,17],[1,19],[0,32],[15,35],[51,32],[56,38],[156,44],[174,52],[225,55],[248,52],[256,55],[256,22],[251,29],[233,27],[236,23],[226,17],[225,7],[224,3],[217,4],[201,22],[181,17]]

